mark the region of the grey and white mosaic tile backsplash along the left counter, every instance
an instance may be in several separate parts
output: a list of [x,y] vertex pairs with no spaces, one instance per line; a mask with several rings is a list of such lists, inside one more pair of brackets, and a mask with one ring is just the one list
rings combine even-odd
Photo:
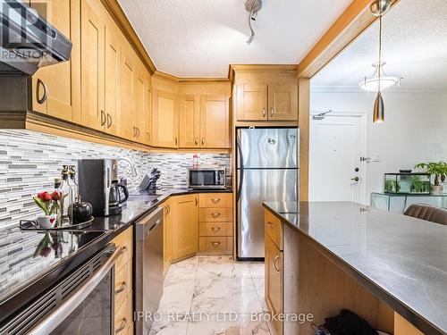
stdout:
[[[129,158],[137,168],[138,175],[132,178],[128,163],[120,163],[119,175],[127,178],[131,192],[138,190],[144,175],[154,167],[162,172],[158,186],[187,187],[186,168],[192,165],[192,154],[153,154],[29,130],[0,130],[0,229],[38,214],[31,196],[53,188],[63,164],[77,165],[80,158],[118,157]],[[199,154],[198,157],[198,163],[225,166],[227,182],[231,182],[230,155]]]

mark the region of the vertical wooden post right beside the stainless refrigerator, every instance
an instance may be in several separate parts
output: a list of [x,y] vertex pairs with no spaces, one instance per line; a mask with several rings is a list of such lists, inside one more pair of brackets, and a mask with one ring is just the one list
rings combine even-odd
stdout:
[[298,80],[299,201],[308,201],[310,80]]

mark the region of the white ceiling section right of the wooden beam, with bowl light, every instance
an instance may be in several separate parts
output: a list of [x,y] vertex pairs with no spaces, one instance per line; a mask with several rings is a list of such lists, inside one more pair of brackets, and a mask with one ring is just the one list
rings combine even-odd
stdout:
[[[377,62],[376,22],[312,79],[314,88],[357,89]],[[384,16],[383,54],[387,75],[403,77],[399,90],[447,90],[446,0],[400,1]]]

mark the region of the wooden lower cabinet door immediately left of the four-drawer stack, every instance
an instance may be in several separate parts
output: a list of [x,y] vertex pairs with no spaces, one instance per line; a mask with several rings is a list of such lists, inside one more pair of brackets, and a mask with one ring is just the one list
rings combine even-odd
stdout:
[[198,196],[173,198],[173,259],[198,251]]

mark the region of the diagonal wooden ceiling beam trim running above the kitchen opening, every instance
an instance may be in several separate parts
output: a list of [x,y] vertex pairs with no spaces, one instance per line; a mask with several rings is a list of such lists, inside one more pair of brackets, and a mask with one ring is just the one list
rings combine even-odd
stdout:
[[[399,0],[392,0],[392,5]],[[377,18],[369,12],[371,0],[353,0],[298,65],[299,78],[311,78],[330,63]]]

